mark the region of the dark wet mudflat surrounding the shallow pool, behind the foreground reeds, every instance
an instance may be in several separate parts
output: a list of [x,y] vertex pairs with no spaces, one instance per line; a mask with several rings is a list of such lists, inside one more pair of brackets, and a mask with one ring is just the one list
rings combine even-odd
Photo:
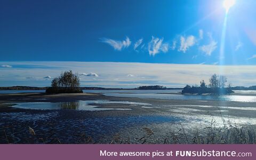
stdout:
[[[12,106],[15,103],[78,100],[110,100],[150,105],[97,104],[99,108],[131,109],[127,111],[30,110]],[[149,130],[154,131],[155,138],[149,138],[148,142],[163,143],[166,136],[180,130],[181,127],[189,135],[207,127],[212,120],[216,121],[217,126],[223,125],[225,119],[232,125],[254,127],[255,114],[256,103],[246,102],[145,99],[86,93],[2,94],[0,95],[0,143],[108,144],[120,141],[141,144],[140,139],[145,137]],[[29,133],[28,127],[34,129],[36,136]]]

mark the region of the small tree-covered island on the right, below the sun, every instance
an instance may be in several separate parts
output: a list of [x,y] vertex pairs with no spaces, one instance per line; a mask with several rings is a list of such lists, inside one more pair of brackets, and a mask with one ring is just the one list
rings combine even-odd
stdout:
[[214,95],[226,95],[231,94],[234,91],[231,89],[231,85],[229,84],[226,87],[227,78],[225,75],[217,75],[213,74],[209,79],[210,84],[207,86],[205,81],[202,80],[200,82],[200,86],[189,86],[183,88],[181,94],[214,94]]

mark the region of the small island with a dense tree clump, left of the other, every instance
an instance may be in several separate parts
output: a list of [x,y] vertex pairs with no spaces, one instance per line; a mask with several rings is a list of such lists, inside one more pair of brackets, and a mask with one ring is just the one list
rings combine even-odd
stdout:
[[58,78],[52,80],[50,88],[46,89],[46,94],[66,94],[66,93],[82,93],[80,88],[80,80],[78,74],[74,74],[71,70],[61,73]]

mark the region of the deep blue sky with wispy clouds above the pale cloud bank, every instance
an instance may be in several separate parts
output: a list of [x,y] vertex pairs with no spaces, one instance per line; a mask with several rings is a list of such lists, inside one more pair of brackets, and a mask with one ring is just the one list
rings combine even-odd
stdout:
[[[2,0],[0,74],[6,76],[3,75],[6,70],[13,74],[19,74],[18,70],[33,71],[38,68],[37,62],[44,66],[41,70],[47,70],[45,62],[51,61],[72,61],[72,65],[75,62],[135,62],[155,66],[158,63],[221,64],[253,68],[256,64],[256,1],[236,0],[228,13],[222,3],[222,0]],[[227,26],[223,40],[225,16]],[[21,64],[17,65],[19,62]],[[63,70],[59,66],[56,68]],[[24,81],[8,83],[2,79],[4,85],[0,85],[29,84],[25,75],[19,76],[23,76]],[[156,84],[157,81],[150,82]],[[36,86],[49,84],[39,80],[35,83]],[[86,85],[89,84],[84,83]]]

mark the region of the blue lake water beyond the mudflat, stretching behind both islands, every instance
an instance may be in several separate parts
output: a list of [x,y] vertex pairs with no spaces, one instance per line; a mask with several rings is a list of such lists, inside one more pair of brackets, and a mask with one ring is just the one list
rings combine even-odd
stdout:
[[[222,96],[199,96],[199,95],[174,95],[170,93],[181,92],[181,90],[83,90],[89,93],[101,93],[106,96],[116,97],[138,97],[138,98],[158,98],[158,99],[196,99],[196,100],[224,100],[235,102],[256,102],[255,90],[237,90],[235,92],[242,95],[222,95]],[[11,94],[19,92],[44,92],[44,90],[0,90],[0,94]],[[247,94],[255,94],[248,96]]]

